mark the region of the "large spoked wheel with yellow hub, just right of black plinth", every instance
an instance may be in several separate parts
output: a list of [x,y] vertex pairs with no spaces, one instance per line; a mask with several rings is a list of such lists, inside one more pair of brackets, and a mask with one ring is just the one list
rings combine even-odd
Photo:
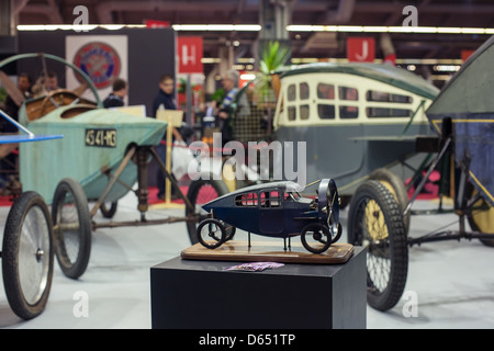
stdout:
[[401,207],[379,181],[362,183],[348,214],[348,241],[367,247],[367,302],[378,310],[393,308],[405,288],[408,246]]

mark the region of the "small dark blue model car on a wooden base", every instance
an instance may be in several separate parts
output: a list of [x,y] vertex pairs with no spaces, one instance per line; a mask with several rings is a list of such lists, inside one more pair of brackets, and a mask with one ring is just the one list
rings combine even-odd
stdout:
[[[291,181],[243,188],[202,206],[210,217],[197,229],[199,242],[214,249],[232,239],[235,228],[284,239],[301,236],[311,252],[326,251],[341,236],[339,197],[335,182],[323,179],[314,199],[303,197]],[[316,182],[312,183],[315,184]],[[310,185],[312,185],[310,184]]]

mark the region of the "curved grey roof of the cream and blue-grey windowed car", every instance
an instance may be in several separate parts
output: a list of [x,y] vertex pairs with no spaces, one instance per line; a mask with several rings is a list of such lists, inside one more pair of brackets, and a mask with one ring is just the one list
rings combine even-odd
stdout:
[[301,65],[282,72],[281,78],[304,73],[347,73],[367,77],[394,87],[411,91],[417,95],[435,99],[439,89],[422,77],[412,73],[403,68],[382,64],[332,64],[317,63]]

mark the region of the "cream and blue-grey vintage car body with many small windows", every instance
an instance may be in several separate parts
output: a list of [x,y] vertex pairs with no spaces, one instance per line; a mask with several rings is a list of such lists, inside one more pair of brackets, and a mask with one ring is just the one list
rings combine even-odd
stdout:
[[[403,165],[422,162],[415,138],[434,134],[425,111],[439,90],[419,76],[391,65],[319,63],[280,78],[277,140],[306,140],[307,179],[330,177],[343,202],[377,169],[406,179],[413,171]],[[341,151],[327,158],[328,149]]]

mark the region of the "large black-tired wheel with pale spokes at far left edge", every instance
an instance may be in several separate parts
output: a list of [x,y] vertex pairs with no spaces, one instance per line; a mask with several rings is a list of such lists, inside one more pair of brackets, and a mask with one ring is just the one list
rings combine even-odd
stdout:
[[52,218],[43,197],[32,191],[22,193],[7,217],[2,248],[7,299],[22,319],[38,316],[48,302],[53,241]]

